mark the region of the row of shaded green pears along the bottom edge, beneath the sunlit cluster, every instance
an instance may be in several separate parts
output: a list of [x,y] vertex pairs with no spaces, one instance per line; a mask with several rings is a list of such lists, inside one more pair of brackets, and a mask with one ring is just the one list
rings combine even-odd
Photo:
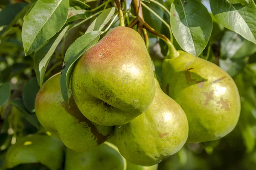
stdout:
[[158,164],[143,167],[126,161],[110,142],[77,152],[65,148],[55,137],[41,133],[19,138],[9,147],[4,170],[60,170],[64,160],[64,170],[157,170],[158,167]]

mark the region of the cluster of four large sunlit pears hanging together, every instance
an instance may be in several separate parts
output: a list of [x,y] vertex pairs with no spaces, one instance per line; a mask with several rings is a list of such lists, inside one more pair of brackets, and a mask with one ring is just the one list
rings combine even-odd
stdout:
[[61,96],[60,74],[35,100],[39,122],[70,149],[90,151],[114,136],[122,156],[151,166],[186,142],[219,139],[236,126],[240,98],[217,65],[178,51],[163,62],[163,91],[145,43],[127,27],[111,29],[77,62]]

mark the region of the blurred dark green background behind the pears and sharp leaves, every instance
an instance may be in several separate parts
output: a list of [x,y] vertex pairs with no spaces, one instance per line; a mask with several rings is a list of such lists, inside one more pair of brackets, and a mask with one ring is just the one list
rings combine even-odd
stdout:
[[[172,0],[157,0],[170,8]],[[23,17],[31,0],[0,0],[0,86],[10,93],[7,101],[0,96],[0,169],[9,146],[17,138],[39,133],[44,129],[35,116],[34,101],[39,90],[35,77],[33,54],[25,56],[21,40]],[[128,0],[127,0],[128,2]],[[209,1],[201,1],[209,10]],[[99,1],[89,2],[91,7]],[[111,3],[109,7],[113,6]],[[169,15],[155,3],[147,6],[169,23]],[[145,21],[169,37],[169,30],[150,11],[143,8]],[[227,30],[213,20],[213,30],[207,47],[199,56],[219,65],[236,82],[241,96],[241,115],[236,128],[227,136],[213,142],[185,144],[174,156],[163,160],[159,170],[255,170],[256,169],[256,45],[239,34]],[[56,48],[47,66],[45,77],[61,71],[67,48],[90,23],[69,31]],[[113,27],[118,26],[116,22]],[[174,39],[175,48],[181,49]],[[167,45],[149,33],[149,51],[157,77]],[[6,86],[6,83],[9,86]],[[6,86],[6,88],[3,88]],[[8,90],[9,89],[9,90]]]

